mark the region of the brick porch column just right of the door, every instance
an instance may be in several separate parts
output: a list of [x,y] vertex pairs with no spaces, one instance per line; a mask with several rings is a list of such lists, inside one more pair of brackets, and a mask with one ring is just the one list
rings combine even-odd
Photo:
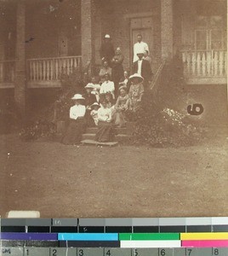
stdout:
[[161,0],[162,20],[162,60],[174,55],[174,15],[173,0]]

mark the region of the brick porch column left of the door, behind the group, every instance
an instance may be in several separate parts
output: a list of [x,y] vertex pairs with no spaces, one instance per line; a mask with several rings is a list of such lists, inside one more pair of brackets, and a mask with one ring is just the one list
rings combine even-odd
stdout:
[[83,69],[94,67],[94,0],[81,0],[81,33]]

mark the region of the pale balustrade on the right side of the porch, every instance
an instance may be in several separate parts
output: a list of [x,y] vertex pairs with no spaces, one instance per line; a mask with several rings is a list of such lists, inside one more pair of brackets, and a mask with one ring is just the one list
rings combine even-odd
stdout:
[[186,78],[223,78],[227,75],[225,50],[183,51]]

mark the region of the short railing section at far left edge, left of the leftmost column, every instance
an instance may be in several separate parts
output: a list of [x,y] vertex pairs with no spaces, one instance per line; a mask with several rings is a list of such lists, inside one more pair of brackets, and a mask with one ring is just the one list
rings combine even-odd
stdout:
[[0,83],[14,83],[15,61],[0,61]]

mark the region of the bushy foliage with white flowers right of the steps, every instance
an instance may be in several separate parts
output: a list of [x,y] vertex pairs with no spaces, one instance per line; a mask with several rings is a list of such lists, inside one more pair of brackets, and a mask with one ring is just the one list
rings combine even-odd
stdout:
[[162,72],[157,96],[146,93],[142,108],[135,114],[135,143],[154,147],[188,146],[202,140],[202,128],[182,113],[187,95],[179,59],[168,63]]

